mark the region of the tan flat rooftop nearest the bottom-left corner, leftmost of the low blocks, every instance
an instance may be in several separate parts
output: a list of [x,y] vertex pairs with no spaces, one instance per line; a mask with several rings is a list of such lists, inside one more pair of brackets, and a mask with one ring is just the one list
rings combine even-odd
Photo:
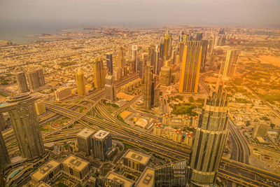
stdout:
[[50,160],[45,165],[42,165],[39,169],[37,169],[36,172],[31,174],[31,177],[36,179],[36,181],[41,181],[41,179],[52,172],[53,169],[57,168],[59,164],[60,163],[55,160]]

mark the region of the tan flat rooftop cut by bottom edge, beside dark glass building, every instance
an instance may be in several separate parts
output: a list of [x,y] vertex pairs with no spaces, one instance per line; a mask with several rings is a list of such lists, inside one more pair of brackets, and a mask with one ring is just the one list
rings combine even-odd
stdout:
[[139,176],[136,187],[152,187],[155,180],[155,169],[146,167],[144,172]]

